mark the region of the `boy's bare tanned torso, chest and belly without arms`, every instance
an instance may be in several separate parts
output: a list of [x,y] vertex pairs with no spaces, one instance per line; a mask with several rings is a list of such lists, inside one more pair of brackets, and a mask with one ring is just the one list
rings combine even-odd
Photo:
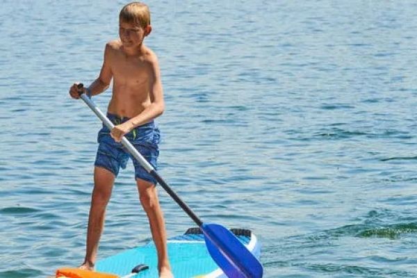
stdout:
[[152,51],[145,47],[144,54],[127,56],[120,40],[110,42],[110,45],[108,63],[113,74],[113,95],[108,112],[121,117],[135,117],[151,104],[149,56]]

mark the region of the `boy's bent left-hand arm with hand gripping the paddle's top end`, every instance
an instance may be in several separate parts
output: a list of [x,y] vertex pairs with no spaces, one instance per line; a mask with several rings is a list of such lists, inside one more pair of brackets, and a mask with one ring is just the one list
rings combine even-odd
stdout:
[[[110,66],[110,56],[111,56],[111,45],[106,44],[106,49],[104,50],[104,61],[101,66],[101,71],[99,77],[91,83],[88,88],[84,88],[84,92],[90,90],[91,95],[99,95],[101,92],[107,90],[110,85],[113,74],[111,72]],[[79,88],[77,87],[79,83],[74,83],[70,88],[70,96],[73,99],[79,99]]]

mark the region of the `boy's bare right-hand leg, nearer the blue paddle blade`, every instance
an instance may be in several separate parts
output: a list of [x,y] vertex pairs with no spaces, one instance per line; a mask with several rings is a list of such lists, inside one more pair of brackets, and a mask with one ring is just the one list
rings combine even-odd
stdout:
[[159,204],[158,192],[153,183],[137,179],[140,203],[149,218],[152,238],[158,252],[159,277],[172,278],[170,261],[167,252],[167,234],[165,231],[165,221]]

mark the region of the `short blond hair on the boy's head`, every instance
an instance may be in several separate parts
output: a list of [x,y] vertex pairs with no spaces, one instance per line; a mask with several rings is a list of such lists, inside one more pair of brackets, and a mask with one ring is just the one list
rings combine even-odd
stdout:
[[144,3],[132,2],[122,8],[119,20],[145,28],[151,25],[151,13],[149,12],[149,7]]

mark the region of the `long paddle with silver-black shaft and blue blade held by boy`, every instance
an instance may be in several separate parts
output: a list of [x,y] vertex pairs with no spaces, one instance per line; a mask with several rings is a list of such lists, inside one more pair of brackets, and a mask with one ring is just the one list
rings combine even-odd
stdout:
[[[99,117],[108,129],[112,130],[114,124],[108,120],[95,103],[83,93],[81,90],[83,84],[79,84],[80,97],[85,104]],[[185,211],[191,219],[198,225],[204,234],[206,247],[211,257],[223,270],[227,277],[233,278],[261,278],[263,275],[263,267],[256,257],[243,245],[243,243],[234,236],[228,229],[220,224],[204,223],[197,215],[184,203],[177,193],[165,183],[162,177],[156,172],[154,167],[150,165],[145,158],[131,145],[129,140],[122,138],[122,145],[126,147],[129,153],[138,160],[140,165],[145,168],[152,177],[158,181],[165,191],[174,199],[179,206]]]

